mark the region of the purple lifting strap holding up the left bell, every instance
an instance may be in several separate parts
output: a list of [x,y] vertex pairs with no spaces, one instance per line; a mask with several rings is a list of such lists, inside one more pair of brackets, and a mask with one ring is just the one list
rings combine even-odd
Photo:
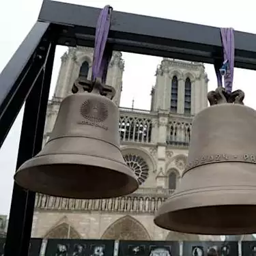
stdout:
[[91,72],[92,82],[96,81],[96,78],[100,78],[102,79],[102,83],[106,83],[106,72],[112,56],[112,51],[106,49],[112,10],[113,8],[110,5],[106,5],[100,12],[98,18],[94,43],[94,60]]

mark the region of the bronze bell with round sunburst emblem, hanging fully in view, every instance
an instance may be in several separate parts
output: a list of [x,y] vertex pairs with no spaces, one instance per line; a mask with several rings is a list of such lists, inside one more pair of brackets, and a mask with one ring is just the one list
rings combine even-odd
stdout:
[[96,81],[91,93],[78,92],[61,102],[50,138],[38,155],[18,169],[17,184],[76,199],[119,197],[137,190],[136,176],[119,149],[119,109],[102,96],[113,98],[109,88]]

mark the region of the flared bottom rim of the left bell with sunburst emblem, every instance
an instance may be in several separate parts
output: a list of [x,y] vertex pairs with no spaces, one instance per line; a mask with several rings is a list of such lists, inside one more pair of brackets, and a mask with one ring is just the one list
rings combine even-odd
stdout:
[[[47,164],[40,164],[40,162],[42,163],[47,162]],[[31,186],[30,187],[26,186],[24,180],[22,180],[19,177],[20,173],[25,174],[24,173],[25,171],[31,172],[31,171],[34,171],[33,170],[34,168],[45,167],[46,165],[86,166],[85,162],[87,163],[86,165],[96,166],[96,167],[102,167],[102,165],[100,165],[99,162],[101,162],[101,164],[102,162],[104,162],[104,167],[102,167],[103,169],[108,169],[113,172],[118,172],[121,175],[126,175],[126,177],[128,177],[128,182],[126,184],[126,187],[123,188],[123,190],[121,188],[119,190],[117,190],[116,188],[113,188],[112,190],[106,191],[106,193],[102,193],[102,195],[97,197],[91,197],[91,196],[86,197],[85,195],[81,195],[81,197],[78,197],[76,195],[76,197],[74,197],[74,196],[63,195],[63,194],[60,195],[58,193],[49,193],[49,190],[46,191],[46,189],[42,187],[40,188],[40,186],[33,186],[33,188],[31,188]],[[50,195],[54,197],[65,197],[65,198],[74,198],[74,199],[109,199],[114,197],[122,197],[124,195],[129,195],[130,193],[134,193],[134,191],[139,188],[139,182],[137,181],[136,175],[134,174],[132,169],[130,169],[124,163],[113,161],[108,158],[102,158],[98,156],[79,155],[79,154],[51,154],[51,155],[35,156],[35,158],[31,158],[30,160],[28,160],[27,162],[23,163],[23,165],[20,166],[18,171],[16,171],[16,173],[14,174],[14,180],[19,186],[22,186],[23,188],[27,190],[31,190],[35,193],[42,193],[42,194]]]

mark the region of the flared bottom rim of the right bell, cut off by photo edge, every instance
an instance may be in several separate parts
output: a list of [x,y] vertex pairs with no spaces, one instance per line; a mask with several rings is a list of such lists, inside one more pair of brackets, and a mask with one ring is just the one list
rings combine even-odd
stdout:
[[[176,197],[175,193],[167,201],[162,203],[160,205],[160,208],[156,212],[156,215],[154,217],[154,224],[158,227],[161,227],[162,229],[167,229],[171,231],[176,232],[182,232],[182,233],[196,233],[201,235],[242,235],[242,234],[248,234],[248,233],[256,233],[256,225],[248,225],[244,228],[241,227],[231,227],[229,228],[223,228],[220,232],[221,227],[212,227],[209,223],[209,226],[201,226],[200,223],[202,222],[201,216],[198,218],[198,224],[197,225],[186,225],[186,223],[178,223],[177,221],[174,221],[173,218],[177,218],[177,215],[181,214],[182,211],[188,210],[201,210],[201,212],[208,210],[210,208],[218,208],[221,210],[221,208],[227,208],[227,207],[240,207],[240,208],[253,208],[256,212],[256,198],[255,198],[255,192],[256,192],[256,186],[255,189],[252,189],[249,186],[244,186],[244,189],[242,190],[240,186],[233,186],[232,190],[223,189],[223,190],[200,190],[197,191],[197,194],[200,195],[193,195],[191,194],[181,194],[179,197]],[[236,190],[236,193],[234,191]],[[214,193],[215,192],[215,193]],[[250,195],[251,194],[251,195]],[[195,203],[195,198],[202,198],[205,197],[205,200],[198,200],[197,203]],[[224,198],[224,199],[223,199]],[[236,199],[236,203],[231,203],[232,200]],[[177,201],[184,200],[184,203],[182,203],[183,206],[180,206],[180,208],[176,208],[176,205],[179,205]],[[251,200],[251,201],[249,201]],[[230,203],[227,203],[229,201]],[[249,202],[250,203],[249,203]],[[188,203],[190,202],[190,204]],[[206,203],[207,202],[207,203]],[[214,202],[214,203],[212,203]],[[246,203],[244,203],[246,202]],[[193,207],[192,207],[193,206]],[[182,208],[183,207],[183,208]],[[169,210],[167,210],[167,208]],[[246,212],[246,210],[244,210]],[[244,216],[242,216],[244,214]],[[246,218],[246,213],[242,213],[241,218]],[[188,214],[189,216],[190,214]],[[172,221],[173,220],[173,221]],[[241,231],[242,230],[242,231]]]

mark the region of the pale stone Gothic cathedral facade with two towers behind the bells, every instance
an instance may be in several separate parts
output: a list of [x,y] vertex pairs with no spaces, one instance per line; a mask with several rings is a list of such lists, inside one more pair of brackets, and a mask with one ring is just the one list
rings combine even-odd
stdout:
[[[93,49],[70,48],[61,58],[53,99],[48,104],[44,143],[53,129],[61,100],[79,76],[91,76]],[[107,83],[119,106],[124,61],[113,53]],[[156,70],[150,111],[120,108],[122,154],[139,189],[126,197],[98,200],[37,195],[32,236],[114,240],[219,240],[219,237],[166,231],[154,213],[180,182],[188,153],[193,116],[207,107],[208,77],[202,63],[162,59]],[[150,91],[149,91],[150,92]]]

